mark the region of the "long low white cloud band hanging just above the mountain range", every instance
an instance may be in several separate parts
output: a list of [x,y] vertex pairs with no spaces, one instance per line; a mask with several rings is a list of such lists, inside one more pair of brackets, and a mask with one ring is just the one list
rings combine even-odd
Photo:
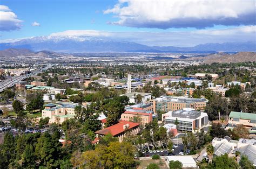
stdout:
[[[219,30],[196,31],[161,31],[161,32],[110,32],[96,30],[68,30],[52,33],[42,39],[87,40],[91,38],[111,39],[117,41],[130,41],[149,46],[180,46],[190,47],[206,43],[246,42],[256,41],[256,26],[240,26]],[[17,39],[0,40],[18,41]]]

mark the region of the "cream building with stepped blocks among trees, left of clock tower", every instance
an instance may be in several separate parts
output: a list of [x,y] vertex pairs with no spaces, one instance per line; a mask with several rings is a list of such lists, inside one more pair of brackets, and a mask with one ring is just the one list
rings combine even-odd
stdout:
[[49,123],[63,123],[69,118],[75,116],[75,107],[78,103],[67,103],[67,102],[58,102],[57,104],[49,103],[44,105],[42,110],[42,117],[49,117]]

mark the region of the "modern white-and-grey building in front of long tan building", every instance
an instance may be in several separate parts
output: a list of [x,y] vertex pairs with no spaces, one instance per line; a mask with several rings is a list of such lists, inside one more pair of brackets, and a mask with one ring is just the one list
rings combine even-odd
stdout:
[[208,125],[206,112],[196,111],[191,108],[169,111],[162,117],[164,117],[164,124],[176,124],[176,121],[178,121],[177,130],[179,131],[196,132],[196,130],[200,131],[200,129]]

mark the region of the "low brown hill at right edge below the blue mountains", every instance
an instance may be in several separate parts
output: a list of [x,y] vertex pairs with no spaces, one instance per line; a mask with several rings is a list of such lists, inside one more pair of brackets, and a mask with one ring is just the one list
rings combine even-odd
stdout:
[[219,63],[238,63],[246,61],[256,61],[255,52],[238,52],[235,54],[228,54],[225,52],[219,52],[215,54],[207,55],[206,57],[192,57],[186,60],[203,60],[206,64],[211,64],[213,62]]

